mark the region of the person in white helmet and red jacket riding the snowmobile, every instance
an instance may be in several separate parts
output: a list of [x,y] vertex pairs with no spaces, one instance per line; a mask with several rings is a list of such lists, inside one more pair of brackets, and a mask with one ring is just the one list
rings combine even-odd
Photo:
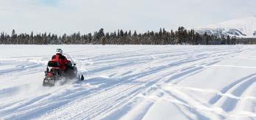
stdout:
[[56,50],[56,54],[51,57],[51,61],[57,61],[60,64],[60,70],[64,72],[67,70],[73,70],[71,61],[63,56],[63,50],[61,50],[60,48],[58,48]]

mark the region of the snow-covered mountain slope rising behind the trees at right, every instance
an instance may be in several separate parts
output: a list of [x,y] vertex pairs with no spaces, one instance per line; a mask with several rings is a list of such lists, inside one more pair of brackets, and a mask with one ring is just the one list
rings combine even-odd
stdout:
[[195,29],[200,34],[230,35],[241,38],[256,38],[256,15],[228,20]]

